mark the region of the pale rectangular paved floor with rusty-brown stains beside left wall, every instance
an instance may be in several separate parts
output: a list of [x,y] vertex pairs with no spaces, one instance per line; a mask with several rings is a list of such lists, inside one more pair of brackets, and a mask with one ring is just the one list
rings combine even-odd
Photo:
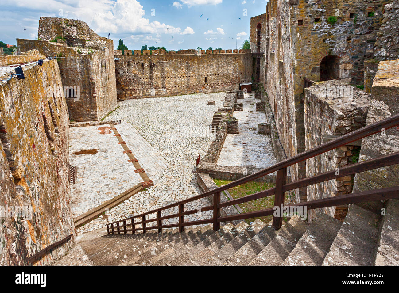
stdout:
[[71,184],[74,217],[142,182],[110,128],[101,125],[69,130],[69,163],[76,167],[76,181]]

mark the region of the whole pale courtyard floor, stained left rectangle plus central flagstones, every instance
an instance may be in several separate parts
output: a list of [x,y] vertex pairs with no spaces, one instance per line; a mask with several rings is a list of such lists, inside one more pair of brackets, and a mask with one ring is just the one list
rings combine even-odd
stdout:
[[[198,155],[205,155],[214,138],[215,134],[209,131],[209,125],[213,113],[223,106],[225,94],[189,94],[120,102],[120,108],[106,120],[122,120],[120,125],[115,126],[154,186],[78,228],[77,234],[105,229],[108,222],[202,193],[193,171]],[[215,100],[216,104],[209,106],[208,100]],[[99,134],[98,128],[89,126],[70,129],[71,164],[81,165],[77,169],[77,182],[72,188],[74,215],[140,182],[122,147],[118,145],[117,138],[113,134]],[[82,138],[83,134],[87,137]],[[92,155],[73,154],[88,149],[99,151]],[[109,185],[104,187],[103,183]],[[201,199],[185,205],[185,209],[199,209],[207,205],[210,205],[208,199]],[[170,209],[162,215],[174,212],[176,210]],[[186,216],[186,220],[200,220],[211,215],[211,211],[199,212]],[[170,219],[164,220],[163,224],[175,222],[177,219]]]

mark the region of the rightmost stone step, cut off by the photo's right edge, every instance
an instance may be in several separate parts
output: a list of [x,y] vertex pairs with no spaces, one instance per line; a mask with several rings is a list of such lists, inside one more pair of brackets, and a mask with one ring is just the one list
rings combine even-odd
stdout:
[[375,265],[399,265],[399,200],[397,199],[387,201]]

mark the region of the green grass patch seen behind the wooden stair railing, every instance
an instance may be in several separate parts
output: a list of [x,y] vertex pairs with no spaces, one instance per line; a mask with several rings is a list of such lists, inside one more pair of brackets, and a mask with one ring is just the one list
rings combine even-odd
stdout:
[[[231,181],[228,180],[219,180],[219,179],[213,179],[215,181],[215,184],[220,187],[223,185],[226,185],[227,183],[230,183]],[[236,187],[233,187],[231,189],[228,189],[231,197],[233,199],[239,199],[241,197],[245,197],[247,195],[251,195],[253,193],[257,193],[263,190],[267,190],[270,188],[275,187],[275,184],[273,183],[263,183],[263,182],[248,182]],[[288,193],[285,193],[286,197],[286,202],[288,202]],[[255,201],[249,201],[247,203],[240,203],[239,204],[240,208],[243,210],[243,212],[253,212],[256,210],[264,210],[266,208],[273,208],[274,206],[274,195],[271,197],[265,197],[263,199],[256,199]],[[245,222],[248,224],[255,221],[257,218],[249,218],[245,219]],[[265,217],[259,217],[259,220],[265,222],[266,224],[270,222],[273,219],[273,216],[265,216]],[[283,221],[288,222],[289,218],[284,217]]]

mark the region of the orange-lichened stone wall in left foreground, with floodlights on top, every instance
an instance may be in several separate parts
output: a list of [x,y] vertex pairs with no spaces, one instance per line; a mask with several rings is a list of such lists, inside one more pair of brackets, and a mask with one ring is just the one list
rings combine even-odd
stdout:
[[[1,265],[27,265],[28,257],[74,233],[67,104],[47,88],[62,86],[57,61],[23,71],[25,80],[0,82],[0,211],[27,206],[33,214],[0,218]],[[70,246],[71,240],[36,264],[53,264]]]

